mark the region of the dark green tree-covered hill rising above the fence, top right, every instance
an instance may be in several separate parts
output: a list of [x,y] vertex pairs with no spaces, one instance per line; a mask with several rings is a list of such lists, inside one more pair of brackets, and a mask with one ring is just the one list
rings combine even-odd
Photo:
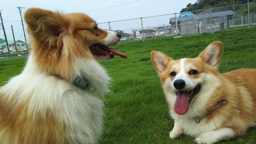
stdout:
[[[255,3],[256,0],[249,0],[249,3]],[[248,0],[234,0],[234,5],[247,4]],[[201,0],[198,3],[189,3],[186,8],[183,8],[180,12],[188,12],[195,10],[202,10],[214,7],[230,6],[233,5],[233,0]]]

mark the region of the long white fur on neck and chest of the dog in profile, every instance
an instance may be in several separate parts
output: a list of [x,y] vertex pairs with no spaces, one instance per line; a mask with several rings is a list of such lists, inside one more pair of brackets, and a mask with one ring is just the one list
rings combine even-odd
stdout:
[[[53,116],[64,123],[70,143],[97,143],[103,125],[104,104],[100,97],[109,91],[110,78],[105,70],[95,60],[77,61],[77,73],[84,77],[90,74],[86,78],[96,87],[95,92],[89,92],[56,76],[38,72],[32,61],[30,56],[23,72],[13,77],[2,90],[12,96],[13,91],[9,90],[15,86],[20,93],[18,96],[14,95],[13,99],[20,103],[31,97],[28,102],[28,115],[41,114],[44,117],[50,109]],[[81,63],[92,66],[83,69],[79,67]]]

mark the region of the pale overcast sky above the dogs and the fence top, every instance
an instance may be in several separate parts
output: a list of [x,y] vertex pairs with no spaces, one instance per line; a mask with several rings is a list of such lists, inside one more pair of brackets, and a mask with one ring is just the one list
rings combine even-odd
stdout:
[[[1,0],[0,10],[2,10],[2,18],[7,40],[13,40],[11,29],[12,25],[15,40],[19,39],[25,41],[20,21],[20,13],[16,8],[19,6],[25,7],[21,11],[23,20],[23,14],[26,9],[38,7],[52,11],[61,11],[64,13],[86,13],[96,22],[100,23],[171,14],[176,12],[179,13],[188,3],[194,4],[195,2],[196,0]],[[26,22],[24,21],[23,23],[27,41],[29,43]],[[2,27],[0,29],[0,38],[4,39]]]

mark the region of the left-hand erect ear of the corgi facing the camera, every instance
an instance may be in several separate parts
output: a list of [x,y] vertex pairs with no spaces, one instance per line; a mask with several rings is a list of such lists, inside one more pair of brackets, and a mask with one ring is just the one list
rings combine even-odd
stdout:
[[162,52],[153,51],[151,52],[151,60],[153,65],[156,68],[156,71],[159,74],[164,72],[164,70],[167,68],[167,65],[169,61],[173,60],[172,58],[168,57]]

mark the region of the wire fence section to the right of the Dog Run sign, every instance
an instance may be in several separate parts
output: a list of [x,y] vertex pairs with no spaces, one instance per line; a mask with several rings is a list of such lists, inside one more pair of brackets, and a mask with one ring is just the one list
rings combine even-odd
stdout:
[[218,30],[255,27],[255,17],[255,3],[211,8],[181,21],[180,34],[213,33]]

